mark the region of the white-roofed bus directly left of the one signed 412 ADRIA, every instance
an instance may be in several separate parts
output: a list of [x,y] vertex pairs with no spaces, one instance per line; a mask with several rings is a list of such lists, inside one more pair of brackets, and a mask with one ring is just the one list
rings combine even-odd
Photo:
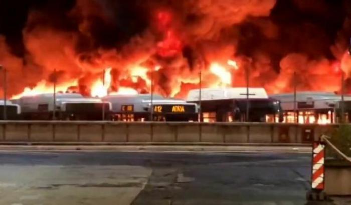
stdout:
[[[54,96],[39,94],[23,96],[12,100],[21,106],[21,118],[24,120],[51,120],[54,111]],[[102,111],[108,118],[111,103],[102,102],[98,98],[85,98],[77,93],[57,93],[55,118],[57,120],[101,120]]]

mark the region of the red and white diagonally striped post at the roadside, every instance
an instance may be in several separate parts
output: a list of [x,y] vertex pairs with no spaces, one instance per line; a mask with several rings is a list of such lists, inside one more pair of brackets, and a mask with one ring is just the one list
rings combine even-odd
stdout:
[[312,160],[312,190],[324,190],[324,161],[325,161],[325,144],[318,141],[313,142],[313,160]]

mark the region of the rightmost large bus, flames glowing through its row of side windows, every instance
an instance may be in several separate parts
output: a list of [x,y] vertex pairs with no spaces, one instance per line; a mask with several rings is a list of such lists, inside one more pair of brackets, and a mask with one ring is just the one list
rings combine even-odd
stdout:
[[[276,94],[270,97],[280,100],[284,110],[283,122],[300,124],[340,122],[341,95],[333,92],[297,92],[296,98],[294,93]],[[344,97],[344,111],[345,120],[351,121],[351,96]]]

